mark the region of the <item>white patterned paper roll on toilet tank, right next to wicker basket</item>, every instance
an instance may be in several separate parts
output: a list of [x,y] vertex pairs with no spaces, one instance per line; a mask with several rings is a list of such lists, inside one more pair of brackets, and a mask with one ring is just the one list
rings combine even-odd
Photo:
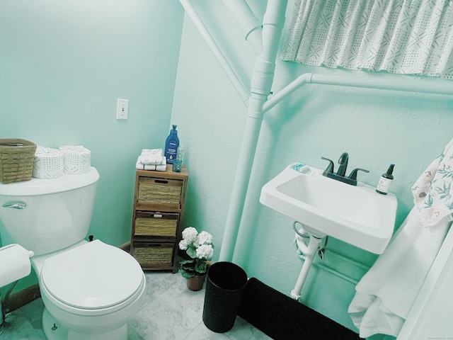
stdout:
[[32,176],[37,179],[56,179],[64,174],[64,154],[59,149],[41,147],[35,152]]

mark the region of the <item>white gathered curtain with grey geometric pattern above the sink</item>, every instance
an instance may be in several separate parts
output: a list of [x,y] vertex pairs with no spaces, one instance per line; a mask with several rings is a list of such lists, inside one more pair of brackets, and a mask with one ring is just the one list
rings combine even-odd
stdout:
[[296,0],[281,59],[453,79],[453,0]]

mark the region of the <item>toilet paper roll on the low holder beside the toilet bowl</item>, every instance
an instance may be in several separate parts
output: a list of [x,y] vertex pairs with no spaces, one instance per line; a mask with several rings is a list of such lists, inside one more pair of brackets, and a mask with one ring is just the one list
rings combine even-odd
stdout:
[[31,271],[30,257],[33,251],[28,251],[19,244],[8,244],[0,248],[0,287],[28,276]]

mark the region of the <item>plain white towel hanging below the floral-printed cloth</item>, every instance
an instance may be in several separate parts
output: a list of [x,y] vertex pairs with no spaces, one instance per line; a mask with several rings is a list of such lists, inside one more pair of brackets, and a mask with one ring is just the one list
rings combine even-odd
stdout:
[[355,287],[348,313],[362,338],[398,336],[449,225],[445,217],[425,227],[415,208],[409,212],[384,254]]

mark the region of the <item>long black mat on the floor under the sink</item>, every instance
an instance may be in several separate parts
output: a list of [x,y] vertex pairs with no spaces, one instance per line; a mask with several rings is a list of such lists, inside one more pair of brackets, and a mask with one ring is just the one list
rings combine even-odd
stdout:
[[239,316],[275,340],[360,340],[354,331],[256,278],[248,280]]

